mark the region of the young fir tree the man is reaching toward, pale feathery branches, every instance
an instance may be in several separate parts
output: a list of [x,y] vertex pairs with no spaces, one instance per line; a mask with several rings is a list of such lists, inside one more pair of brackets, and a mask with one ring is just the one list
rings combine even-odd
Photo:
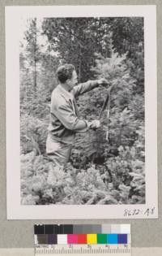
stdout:
[[[134,120],[134,112],[131,108],[135,80],[130,76],[126,54],[119,55],[115,51],[112,33],[107,36],[107,43],[109,57],[104,58],[96,54],[96,67],[92,67],[92,71],[97,79],[104,77],[109,81],[109,85],[113,85],[109,102],[109,119],[106,108],[101,116],[99,129],[77,136],[73,155],[78,154],[81,165],[91,160],[95,163],[103,163],[105,158],[117,155],[117,148],[120,145],[132,145],[135,139],[134,131],[139,125]],[[81,116],[89,120],[99,119],[101,107],[108,95],[109,85],[93,89],[79,99]],[[108,130],[109,140],[106,138]]]

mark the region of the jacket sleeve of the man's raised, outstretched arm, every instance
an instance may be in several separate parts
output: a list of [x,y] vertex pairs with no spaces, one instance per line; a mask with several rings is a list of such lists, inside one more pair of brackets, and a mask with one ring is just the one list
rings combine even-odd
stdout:
[[88,91],[96,88],[98,85],[98,80],[88,80],[86,83],[76,85],[72,89],[72,93],[75,95],[75,97],[78,97],[79,95],[87,93]]

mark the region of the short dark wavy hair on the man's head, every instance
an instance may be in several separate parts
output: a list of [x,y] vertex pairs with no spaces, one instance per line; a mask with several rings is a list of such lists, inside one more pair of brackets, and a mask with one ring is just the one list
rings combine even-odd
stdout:
[[61,83],[65,83],[67,79],[72,77],[72,73],[75,70],[75,66],[72,64],[64,64],[58,67],[57,76]]

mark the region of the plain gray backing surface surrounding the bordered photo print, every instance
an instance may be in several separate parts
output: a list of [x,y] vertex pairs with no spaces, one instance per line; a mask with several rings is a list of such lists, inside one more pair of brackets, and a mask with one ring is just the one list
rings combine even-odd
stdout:
[[[57,221],[45,220],[6,220],[6,111],[5,111],[5,6],[32,6],[32,5],[156,5],[157,6],[157,67],[158,67],[158,191],[159,191],[159,219],[103,219],[100,220],[72,220],[72,223],[131,223],[132,246],[134,247],[161,247],[162,246],[162,63],[160,46],[162,45],[162,2],[157,1],[45,1],[45,0],[11,0],[0,2],[0,227],[1,227],[1,248],[32,248],[33,247],[33,224],[34,223],[59,223]],[[13,85],[14,86],[14,85]],[[14,134],[13,134],[14,136]],[[13,180],[14,182],[14,180]],[[153,189],[153,188],[152,188]],[[60,221],[61,222],[61,221]],[[62,223],[71,223],[64,220]]]

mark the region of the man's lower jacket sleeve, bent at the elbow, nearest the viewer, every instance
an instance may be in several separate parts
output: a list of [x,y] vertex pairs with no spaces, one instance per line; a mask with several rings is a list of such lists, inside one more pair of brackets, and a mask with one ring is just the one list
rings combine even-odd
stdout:
[[[57,116],[60,122],[71,131],[78,131],[79,123],[83,124],[67,104],[53,107],[52,113]],[[87,126],[85,122],[85,127]]]

